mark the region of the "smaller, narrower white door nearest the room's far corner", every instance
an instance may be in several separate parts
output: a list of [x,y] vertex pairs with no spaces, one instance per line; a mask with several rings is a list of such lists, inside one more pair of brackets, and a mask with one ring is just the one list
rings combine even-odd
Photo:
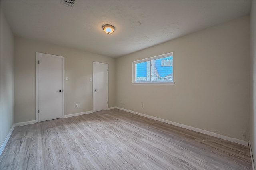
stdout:
[[108,109],[108,64],[93,62],[94,112]]

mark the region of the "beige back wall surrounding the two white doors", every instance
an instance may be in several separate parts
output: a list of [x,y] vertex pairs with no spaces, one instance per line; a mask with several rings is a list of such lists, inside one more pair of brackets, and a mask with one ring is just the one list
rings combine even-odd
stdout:
[[[109,64],[109,107],[116,106],[116,61],[80,50],[15,37],[14,122],[35,120],[36,52],[65,57],[65,115],[92,110],[92,62]],[[78,108],[75,108],[78,104]]]

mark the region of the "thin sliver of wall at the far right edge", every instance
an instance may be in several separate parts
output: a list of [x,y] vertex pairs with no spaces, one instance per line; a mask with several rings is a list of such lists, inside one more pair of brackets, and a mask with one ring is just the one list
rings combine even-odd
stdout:
[[256,2],[252,1],[250,14],[250,31],[251,31],[251,92],[250,92],[250,144],[254,162],[256,161]]

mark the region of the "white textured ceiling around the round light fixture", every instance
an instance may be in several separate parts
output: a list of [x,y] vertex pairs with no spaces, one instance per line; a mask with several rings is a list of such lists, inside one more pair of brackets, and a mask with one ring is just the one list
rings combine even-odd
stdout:
[[[250,0],[1,0],[16,36],[119,57],[250,13]],[[104,24],[116,30],[106,34]]]

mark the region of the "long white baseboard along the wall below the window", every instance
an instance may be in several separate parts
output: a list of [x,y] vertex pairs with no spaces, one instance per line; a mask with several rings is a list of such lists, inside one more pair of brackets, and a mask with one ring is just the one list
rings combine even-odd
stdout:
[[231,137],[224,136],[224,135],[221,135],[221,134],[216,134],[216,133],[214,133],[214,132],[210,132],[210,131],[207,131],[207,130],[202,130],[202,129],[199,129],[199,128],[194,128],[194,127],[192,127],[192,126],[187,126],[187,125],[184,125],[184,124],[172,122],[172,121],[170,121],[170,120],[165,120],[165,119],[161,119],[161,118],[156,118],[156,117],[154,117],[154,116],[149,116],[149,115],[142,114],[142,113],[139,113],[139,112],[134,112],[134,111],[132,111],[132,110],[127,110],[127,109],[119,108],[119,107],[116,107],[116,108],[117,108],[117,109],[120,109],[120,110],[124,110],[124,111],[126,111],[126,112],[133,113],[133,114],[138,114],[138,115],[144,116],[144,117],[146,117],[146,118],[158,120],[158,121],[160,121],[160,122],[172,124],[172,125],[175,125],[175,126],[178,126],[178,127],[181,127],[181,128],[193,130],[193,131],[195,131],[195,132],[199,132],[199,133],[202,133],[202,134],[207,134],[207,135],[210,135],[210,136],[214,136],[214,137],[216,137],[216,138],[221,138],[221,139],[224,139],[224,140],[228,140],[228,141],[230,141],[230,142],[234,142],[234,143],[237,143],[237,144],[242,144],[242,145],[248,146],[248,142],[246,142],[246,141],[244,141],[244,140],[240,140],[240,139],[236,139],[236,138],[231,138]]

